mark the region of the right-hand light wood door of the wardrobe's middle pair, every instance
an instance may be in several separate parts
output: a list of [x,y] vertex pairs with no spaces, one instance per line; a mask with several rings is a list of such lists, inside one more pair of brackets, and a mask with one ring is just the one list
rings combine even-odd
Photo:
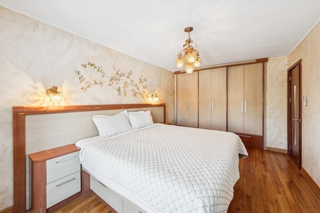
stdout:
[[226,130],[226,67],[212,69],[211,129]]

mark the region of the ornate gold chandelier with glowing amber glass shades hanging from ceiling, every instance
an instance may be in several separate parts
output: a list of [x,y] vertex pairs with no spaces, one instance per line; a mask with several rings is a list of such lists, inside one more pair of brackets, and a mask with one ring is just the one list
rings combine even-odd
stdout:
[[[201,65],[201,58],[199,57],[199,51],[196,49],[196,44],[190,38],[190,31],[193,30],[192,26],[184,28],[184,31],[188,33],[189,37],[183,44],[183,49],[178,53],[178,57],[175,60],[177,67],[183,67],[186,73],[192,73],[194,67]],[[183,53],[182,53],[183,52]]]

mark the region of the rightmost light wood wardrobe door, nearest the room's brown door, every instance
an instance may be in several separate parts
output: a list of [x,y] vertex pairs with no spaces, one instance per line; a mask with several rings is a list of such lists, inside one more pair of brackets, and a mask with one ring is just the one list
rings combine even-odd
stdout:
[[244,65],[244,126],[248,134],[262,135],[262,63]]

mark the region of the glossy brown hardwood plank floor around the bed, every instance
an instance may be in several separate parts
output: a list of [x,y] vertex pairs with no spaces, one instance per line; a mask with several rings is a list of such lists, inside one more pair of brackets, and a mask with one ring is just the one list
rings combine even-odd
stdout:
[[[320,212],[318,194],[287,154],[247,149],[228,212]],[[95,196],[78,197],[54,211],[111,212]]]

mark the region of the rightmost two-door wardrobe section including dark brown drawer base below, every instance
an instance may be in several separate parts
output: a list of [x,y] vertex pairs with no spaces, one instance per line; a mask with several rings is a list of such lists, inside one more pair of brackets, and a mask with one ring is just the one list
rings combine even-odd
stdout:
[[227,79],[227,130],[238,133],[244,144],[262,148],[262,63],[228,67]]

